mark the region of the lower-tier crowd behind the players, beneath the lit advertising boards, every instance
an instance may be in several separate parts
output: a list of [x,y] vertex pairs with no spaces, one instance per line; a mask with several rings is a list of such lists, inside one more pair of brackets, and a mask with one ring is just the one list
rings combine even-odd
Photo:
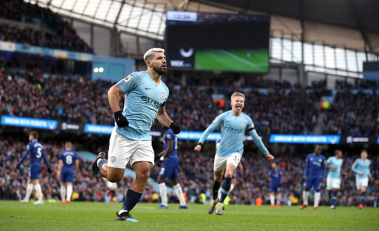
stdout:
[[[26,137],[26,136],[25,136]],[[251,142],[251,141],[250,141]],[[59,153],[63,148],[63,141],[44,143],[45,152],[48,156],[50,166],[54,172],[57,172]],[[0,139],[0,199],[21,200],[25,196],[25,185],[28,179],[28,161],[17,169],[17,161],[25,152],[26,138],[1,137]],[[180,148],[179,156],[181,159],[180,173],[178,181],[181,183],[183,192],[185,192],[188,203],[206,203],[203,201],[202,194],[205,194],[207,200],[211,196],[212,178],[213,178],[213,158],[214,145],[210,143],[205,145],[205,151],[200,154],[192,152],[192,143],[183,143]],[[76,146],[81,146],[76,143]],[[99,147],[99,150],[104,147]],[[159,149],[159,147],[154,147]],[[247,145],[247,151],[243,155],[243,171],[237,173],[236,188],[230,195],[232,204],[254,204],[257,197],[261,197],[264,203],[269,203],[269,178],[270,163],[262,154],[254,148],[253,145]],[[298,199],[300,203],[301,193],[303,190],[303,171],[305,168],[305,157],[307,153],[273,153],[276,156],[275,162],[280,166],[283,172],[283,184],[281,190],[283,199],[282,205],[296,203],[291,198]],[[324,153],[329,157],[330,153]],[[196,158],[194,158],[196,155]],[[95,157],[95,156],[94,156]],[[355,173],[350,170],[352,163],[358,158],[357,153],[344,153],[344,163],[342,168],[347,175],[342,174],[342,185],[339,192],[339,205],[356,205],[359,198],[356,193]],[[379,156],[371,155],[371,174],[367,190],[367,205],[373,205],[379,196]],[[75,174],[74,196],[73,201],[105,201],[107,195],[107,185],[101,177],[92,175],[90,171],[90,161],[80,159],[79,171]],[[151,177],[156,179],[159,167],[154,165]],[[131,177],[124,177],[123,181],[118,183],[116,189],[116,201],[123,201],[127,185],[132,182]],[[41,174],[41,187],[45,199],[59,200],[59,179],[55,174],[48,174],[43,170]],[[158,202],[158,189],[148,183],[143,194],[142,201]],[[169,195],[170,202],[177,202],[173,194]],[[322,192],[321,204],[327,205],[327,192]],[[289,203],[291,201],[291,203]]]

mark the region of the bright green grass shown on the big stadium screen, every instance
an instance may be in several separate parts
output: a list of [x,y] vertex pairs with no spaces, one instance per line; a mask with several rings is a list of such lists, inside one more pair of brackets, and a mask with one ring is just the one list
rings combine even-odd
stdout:
[[196,50],[195,70],[268,72],[269,50]]

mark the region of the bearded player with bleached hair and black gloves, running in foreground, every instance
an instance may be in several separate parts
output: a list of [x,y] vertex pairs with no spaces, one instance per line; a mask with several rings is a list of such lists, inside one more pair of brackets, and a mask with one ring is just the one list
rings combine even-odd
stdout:
[[[150,132],[154,120],[170,127],[174,134],[181,132],[181,126],[172,121],[165,110],[169,90],[161,80],[161,75],[167,72],[164,52],[161,48],[147,50],[143,56],[147,71],[133,72],[108,91],[116,123],[110,137],[108,158],[100,152],[92,162],[92,173],[101,172],[109,181],[119,182],[129,161],[136,172],[121,210],[116,213],[116,221],[139,222],[132,219],[130,211],[141,199],[154,164]],[[125,94],[123,112],[120,108],[121,94]]]

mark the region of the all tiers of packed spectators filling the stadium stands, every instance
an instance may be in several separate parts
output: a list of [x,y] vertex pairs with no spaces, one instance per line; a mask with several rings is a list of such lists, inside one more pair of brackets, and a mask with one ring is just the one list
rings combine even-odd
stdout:
[[[78,24],[80,23],[82,22]],[[62,14],[57,14],[48,8],[41,8],[37,4],[22,0],[0,1],[0,41],[21,43],[26,47],[39,46],[91,55],[95,53],[94,49],[97,51],[99,48],[100,52],[107,53],[101,50],[103,41],[99,42],[101,45],[92,48],[94,42],[90,43],[88,41],[90,39],[85,41],[79,36],[85,32],[76,32],[72,25],[67,16],[63,17]],[[133,36],[135,34],[138,32],[132,33]],[[156,38],[160,35],[155,34]],[[136,40],[144,41],[146,37],[142,36]],[[162,41],[157,40],[159,39],[152,39],[148,45],[163,44]],[[141,54],[147,49],[144,46],[141,47],[143,48],[130,50],[126,55],[127,58],[136,57],[134,70],[145,68]],[[43,57],[43,55],[41,57],[40,54],[20,54],[1,50],[0,116],[51,119],[58,123],[77,123],[81,126],[86,123],[114,125],[113,113],[107,101],[107,90],[116,81],[91,78],[91,74],[78,74],[74,68],[68,68],[72,64],[70,64],[71,61],[67,57],[63,61],[59,57]],[[293,63],[283,61],[280,71],[278,70],[280,76],[281,68],[285,69]],[[89,66],[89,69],[92,69],[92,66]],[[287,78],[283,79],[281,77],[268,78],[272,77],[272,72],[252,76],[235,72],[222,74],[206,72],[204,75],[201,72],[199,74],[192,71],[169,72],[163,76],[163,81],[170,89],[170,97],[166,105],[167,114],[181,125],[182,130],[203,132],[209,123],[212,123],[214,117],[230,110],[230,96],[233,92],[239,91],[246,96],[244,112],[252,118],[258,134],[264,138],[269,137],[270,134],[333,134],[341,137],[378,138],[378,81],[352,79],[349,78],[351,73],[345,76],[339,75],[336,79],[327,79],[324,78],[327,75],[326,70],[317,73],[321,76],[320,78],[309,77],[307,81],[294,81],[298,76],[289,69],[285,69],[285,72],[288,71],[289,74],[284,74]],[[349,72],[347,68],[345,71]],[[92,73],[92,70],[89,73]],[[362,75],[362,70],[353,74]],[[124,77],[121,76],[119,79],[122,78]],[[325,99],[328,100],[330,106],[321,108],[320,103]],[[121,104],[121,108],[122,106]],[[17,161],[25,152],[27,133],[30,130],[32,128],[22,126],[19,128],[1,125],[0,127],[0,200],[21,200],[25,195],[28,163],[23,163],[21,168],[16,168],[16,166]],[[83,150],[94,154],[100,151],[107,152],[108,134],[84,132],[64,134],[59,131],[36,130],[41,132],[40,141],[45,147],[48,160],[54,170],[52,175],[48,174],[46,169],[42,172],[43,177],[40,181],[45,199],[60,199],[60,182],[56,172],[59,153],[63,150],[65,141],[72,141],[74,149],[78,151]],[[162,131],[158,121],[154,122],[152,130]],[[269,143],[266,138],[263,140],[276,157],[275,161],[280,165],[280,170],[283,171],[283,199],[280,202],[282,205],[300,204],[303,191],[303,181],[300,179],[303,177],[305,157],[306,154],[313,152],[314,146],[300,143],[283,144],[278,148],[280,144]],[[163,149],[160,137],[154,136],[152,142],[156,153]],[[184,139],[178,143],[178,154],[181,159],[179,181],[188,203],[207,203],[212,190],[214,142],[205,143],[205,150],[200,154],[193,152],[196,143],[197,141]],[[269,204],[267,177],[269,162],[252,143],[252,141],[245,141],[245,153],[242,159],[244,170],[237,174],[237,185],[230,196],[232,204],[252,205],[257,197],[262,197],[264,203]],[[356,145],[354,143],[325,145],[323,154],[326,157],[330,157],[337,148],[344,152],[342,166],[347,175],[342,176],[343,190],[340,191],[338,205],[357,205],[359,201],[355,188],[355,174],[350,168],[362,148],[369,150],[369,159],[372,161],[373,177],[367,188],[366,203],[370,206],[376,205],[379,197],[377,143],[378,141]],[[80,159],[80,168],[75,177],[73,201],[107,200],[106,183],[100,177],[92,176],[90,165],[91,161]],[[127,168],[131,169],[130,166]],[[154,166],[151,171],[153,181],[156,180],[158,171],[159,168]],[[131,176],[125,176],[118,183],[115,201],[123,201],[127,187],[132,181]],[[155,185],[147,183],[142,201],[159,201],[158,189]],[[322,192],[321,204],[327,205],[327,199],[327,193]],[[169,201],[177,202],[172,192],[170,192]]]

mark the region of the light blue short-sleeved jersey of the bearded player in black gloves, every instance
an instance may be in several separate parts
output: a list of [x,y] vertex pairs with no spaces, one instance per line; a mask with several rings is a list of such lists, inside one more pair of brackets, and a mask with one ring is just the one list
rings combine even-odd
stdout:
[[162,80],[156,85],[146,70],[133,72],[119,81],[117,86],[125,93],[123,115],[129,121],[129,126],[119,128],[117,123],[114,123],[116,132],[135,141],[151,140],[150,129],[156,114],[167,101],[167,86]]

